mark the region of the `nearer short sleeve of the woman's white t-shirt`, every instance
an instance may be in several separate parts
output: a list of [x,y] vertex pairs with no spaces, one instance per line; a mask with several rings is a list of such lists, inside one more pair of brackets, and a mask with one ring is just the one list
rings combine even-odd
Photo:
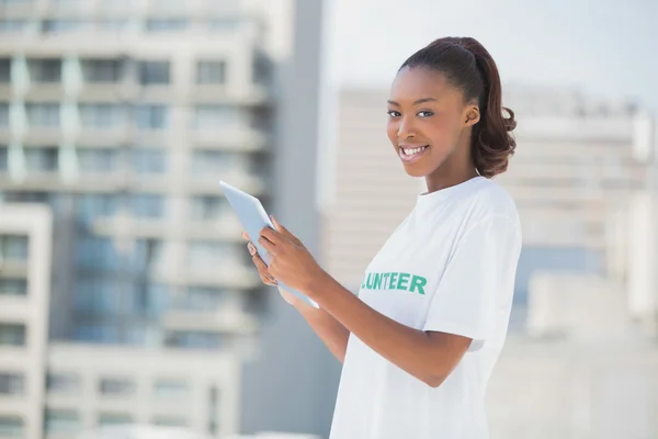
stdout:
[[485,218],[465,232],[434,292],[423,329],[485,341],[509,304],[521,251],[519,225]]

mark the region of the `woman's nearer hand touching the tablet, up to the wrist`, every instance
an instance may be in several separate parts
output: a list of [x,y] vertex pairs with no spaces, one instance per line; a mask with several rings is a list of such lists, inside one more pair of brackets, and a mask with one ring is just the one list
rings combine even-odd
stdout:
[[264,227],[259,244],[268,250],[268,271],[285,285],[308,295],[326,272],[316,262],[304,244],[272,217],[274,229]]

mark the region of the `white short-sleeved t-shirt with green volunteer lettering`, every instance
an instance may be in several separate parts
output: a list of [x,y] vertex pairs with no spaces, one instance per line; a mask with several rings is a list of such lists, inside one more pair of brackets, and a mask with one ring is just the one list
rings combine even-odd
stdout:
[[431,387],[350,336],[331,439],[485,439],[485,389],[503,346],[521,226],[510,195],[476,177],[418,196],[375,256],[359,297],[416,329],[473,338]]

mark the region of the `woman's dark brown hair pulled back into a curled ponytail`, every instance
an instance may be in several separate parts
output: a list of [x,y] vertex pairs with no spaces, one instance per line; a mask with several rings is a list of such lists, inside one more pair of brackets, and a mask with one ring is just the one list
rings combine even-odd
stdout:
[[[466,101],[477,99],[480,120],[473,127],[470,154],[477,171],[491,178],[504,172],[517,142],[509,134],[517,127],[514,112],[502,106],[502,86],[491,55],[475,38],[444,37],[411,55],[400,67],[424,67],[445,75],[462,90]],[[509,116],[503,115],[503,110]]]

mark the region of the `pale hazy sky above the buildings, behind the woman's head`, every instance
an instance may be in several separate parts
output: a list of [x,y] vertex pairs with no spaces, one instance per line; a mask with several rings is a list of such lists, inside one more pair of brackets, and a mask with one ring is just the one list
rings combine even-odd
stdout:
[[388,87],[440,36],[473,36],[503,85],[567,87],[658,114],[658,0],[326,0],[329,85]]

